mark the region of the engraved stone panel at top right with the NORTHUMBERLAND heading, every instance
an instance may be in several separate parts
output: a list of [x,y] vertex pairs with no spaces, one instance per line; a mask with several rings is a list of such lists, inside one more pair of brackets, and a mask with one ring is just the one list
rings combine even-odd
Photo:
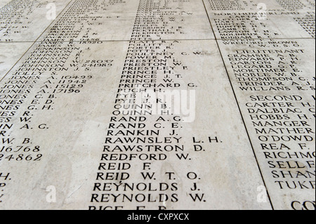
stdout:
[[307,1],[204,2],[218,39],[315,38],[315,5]]

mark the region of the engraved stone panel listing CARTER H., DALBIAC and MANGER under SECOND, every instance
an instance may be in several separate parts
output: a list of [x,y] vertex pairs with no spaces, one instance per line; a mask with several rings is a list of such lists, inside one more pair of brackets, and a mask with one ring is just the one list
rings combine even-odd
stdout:
[[315,41],[220,48],[275,209],[315,198]]

